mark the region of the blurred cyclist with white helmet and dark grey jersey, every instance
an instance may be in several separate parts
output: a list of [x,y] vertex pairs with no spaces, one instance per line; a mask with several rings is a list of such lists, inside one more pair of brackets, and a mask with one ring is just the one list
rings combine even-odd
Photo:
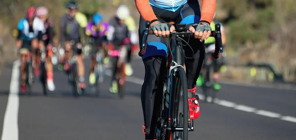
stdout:
[[[129,31],[124,21],[129,17],[129,10],[127,6],[120,5],[116,10],[116,15],[112,17],[109,21],[108,28],[108,48],[112,49],[120,49],[120,45],[124,45],[127,48],[131,47],[131,41],[129,38]],[[117,70],[117,61],[118,57],[111,57],[111,68],[112,76],[111,76],[111,93],[117,93],[117,81],[115,79],[115,74]]]

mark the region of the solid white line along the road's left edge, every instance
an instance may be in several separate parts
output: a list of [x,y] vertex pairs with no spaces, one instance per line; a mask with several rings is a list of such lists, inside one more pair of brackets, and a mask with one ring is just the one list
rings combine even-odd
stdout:
[[19,61],[15,61],[13,63],[1,140],[18,140],[19,66]]

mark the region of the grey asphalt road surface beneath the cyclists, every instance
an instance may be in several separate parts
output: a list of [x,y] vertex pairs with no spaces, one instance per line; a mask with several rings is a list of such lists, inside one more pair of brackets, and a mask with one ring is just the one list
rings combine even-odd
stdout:
[[[1,140],[144,140],[141,60],[133,61],[123,100],[110,94],[109,76],[99,97],[88,92],[75,99],[58,70],[56,91],[47,97],[38,82],[32,96],[14,94],[12,68],[6,64],[0,76]],[[218,98],[216,104],[200,101],[201,116],[189,140],[296,140],[296,90],[222,84]]]

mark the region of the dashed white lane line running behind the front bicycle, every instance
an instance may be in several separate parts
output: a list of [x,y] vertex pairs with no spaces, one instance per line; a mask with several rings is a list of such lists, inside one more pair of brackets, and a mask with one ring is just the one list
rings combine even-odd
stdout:
[[[135,84],[139,84],[142,85],[144,82],[144,79],[138,78],[138,77],[134,77],[134,76],[129,76],[128,80],[131,83],[135,83]],[[228,83],[230,84],[230,83]],[[239,85],[239,84],[237,84]],[[255,86],[254,86],[255,87]],[[269,88],[269,87],[266,87]],[[270,87],[271,88],[271,87]],[[202,94],[198,94],[199,99],[200,100],[204,100],[205,96]],[[209,97],[207,99],[208,102],[212,101],[212,98]],[[222,105],[222,106],[226,106],[226,107],[231,107],[237,110],[241,110],[241,111],[245,111],[245,112],[250,112],[250,113],[255,113],[258,115],[262,115],[262,116],[266,116],[266,117],[271,117],[271,118],[280,118],[281,120],[285,120],[285,121],[290,121],[290,122],[295,122],[296,123],[296,117],[292,117],[292,116],[282,116],[279,113],[275,113],[275,112],[271,112],[271,111],[266,111],[266,110],[259,110],[257,108],[251,107],[251,106],[247,106],[247,105],[238,105],[236,103],[230,102],[230,101],[226,101],[226,100],[221,100],[216,98],[214,103],[218,104],[218,105]]]

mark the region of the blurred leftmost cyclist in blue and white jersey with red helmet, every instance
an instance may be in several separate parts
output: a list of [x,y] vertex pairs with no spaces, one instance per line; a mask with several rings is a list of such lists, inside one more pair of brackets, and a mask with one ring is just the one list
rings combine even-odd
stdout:
[[42,35],[45,32],[43,22],[36,17],[34,6],[29,7],[25,18],[22,18],[17,26],[18,35],[16,47],[21,54],[21,91],[26,92],[26,59],[28,53],[32,51],[32,64],[35,68],[35,74],[38,75],[38,66],[36,62],[37,49],[44,46]]

